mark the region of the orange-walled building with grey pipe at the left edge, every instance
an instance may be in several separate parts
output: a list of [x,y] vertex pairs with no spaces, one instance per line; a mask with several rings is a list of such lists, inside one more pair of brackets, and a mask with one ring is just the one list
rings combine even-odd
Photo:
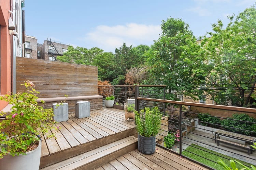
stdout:
[[[25,12],[22,0],[0,3],[0,95],[16,93],[16,56],[24,56]],[[7,102],[0,101],[0,110]]]

